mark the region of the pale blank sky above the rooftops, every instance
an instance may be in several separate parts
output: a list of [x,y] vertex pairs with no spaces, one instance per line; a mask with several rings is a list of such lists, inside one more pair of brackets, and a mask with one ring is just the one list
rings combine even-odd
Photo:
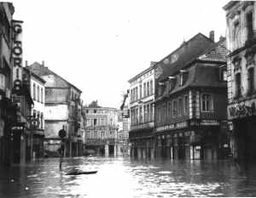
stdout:
[[119,108],[128,80],[201,32],[225,36],[225,0],[13,0],[23,59],[41,63],[88,105]]

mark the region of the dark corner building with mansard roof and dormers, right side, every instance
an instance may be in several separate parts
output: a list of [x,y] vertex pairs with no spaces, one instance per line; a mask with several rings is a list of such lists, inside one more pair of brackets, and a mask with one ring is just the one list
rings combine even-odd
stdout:
[[225,39],[201,33],[156,65],[156,156],[217,159],[228,150]]

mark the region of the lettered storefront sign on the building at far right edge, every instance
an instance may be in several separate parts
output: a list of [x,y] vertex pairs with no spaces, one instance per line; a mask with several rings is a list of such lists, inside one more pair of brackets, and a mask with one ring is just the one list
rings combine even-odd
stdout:
[[255,102],[244,102],[242,104],[231,105],[228,108],[229,119],[244,117],[244,116],[253,116],[256,113]]

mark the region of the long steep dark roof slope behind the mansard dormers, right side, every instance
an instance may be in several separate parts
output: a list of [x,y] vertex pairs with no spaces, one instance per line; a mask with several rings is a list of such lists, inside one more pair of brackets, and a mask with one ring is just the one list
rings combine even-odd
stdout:
[[[158,81],[180,71],[189,62],[198,58],[213,45],[214,42],[201,33],[196,34],[195,37],[189,39],[188,42],[183,42],[183,44],[174,50],[172,54],[167,55],[164,59],[161,59],[160,62],[158,62],[156,72],[160,70],[161,73]],[[173,59],[173,57],[176,58]]]

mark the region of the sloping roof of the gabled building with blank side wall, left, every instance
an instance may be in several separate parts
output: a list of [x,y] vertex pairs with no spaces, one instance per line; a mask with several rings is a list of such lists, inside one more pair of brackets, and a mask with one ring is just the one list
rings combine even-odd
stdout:
[[49,70],[48,67],[39,64],[38,62],[34,62],[32,65],[29,65],[28,68],[32,69],[32,72],[35,73],[38,76],[49,76],[49,75],[54,75],[59,77],[63,82],[66,82],[68,86],[75,88],[77,91],[79,91],[79,93],[82,93],[82,91],[75,87],[72,83],[67,82],[67,80],[65,80],[63,77],[59,76],[58,74],[56,74],[54,71]]

